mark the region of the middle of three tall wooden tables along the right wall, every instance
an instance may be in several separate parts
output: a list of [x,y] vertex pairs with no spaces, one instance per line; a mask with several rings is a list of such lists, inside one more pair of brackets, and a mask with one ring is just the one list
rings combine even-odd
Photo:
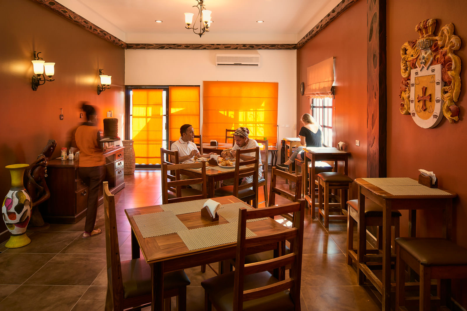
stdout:
[[303,193],[305,200],[310,204],[311,217],[315,217],[315,180],[316,180],[316,161],[334,161],[334,172],[337,172],[339,162],[344,162],[344,174],[348,174],[348,157],[350,152],[344,150],[338,150],[333,147],[307,147],[304,148],[305,161],[302,174],[306,178],[308,173],[308,165],[311,161],[310,174],[308,176],[308,194],[306,194],[306,183],[303,182]]

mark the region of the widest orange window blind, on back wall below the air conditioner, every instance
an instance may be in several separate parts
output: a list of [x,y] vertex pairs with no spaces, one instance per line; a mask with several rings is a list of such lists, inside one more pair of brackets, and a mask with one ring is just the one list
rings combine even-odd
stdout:
[[224,142],[226,129],[241,126],[250,138],[277,143],[276,82],[204,81],[203,141]]

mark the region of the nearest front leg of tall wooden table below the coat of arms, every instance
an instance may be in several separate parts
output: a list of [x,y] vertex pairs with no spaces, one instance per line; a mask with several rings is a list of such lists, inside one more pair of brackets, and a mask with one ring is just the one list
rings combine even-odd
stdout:
[[390,311],[391,294],[391,201],[382,210],[382,311]]

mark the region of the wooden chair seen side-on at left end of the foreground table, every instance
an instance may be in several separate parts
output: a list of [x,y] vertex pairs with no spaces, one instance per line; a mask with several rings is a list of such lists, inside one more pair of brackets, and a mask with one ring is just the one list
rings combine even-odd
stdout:
[[[107,294],[106,311],[146,307],[151,304],[151,267],[144,258],[120,262],[115,200],[104,182],[104,218],[106,223]],[[179,311],[186,310],[186,286],[190,279],[183,270],[164,274],[164,299],[170,310],[170,297],[177,296]]]

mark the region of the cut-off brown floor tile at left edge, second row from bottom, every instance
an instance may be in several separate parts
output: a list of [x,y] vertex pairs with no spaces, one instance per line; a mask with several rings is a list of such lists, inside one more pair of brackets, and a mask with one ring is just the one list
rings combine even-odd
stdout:
[[[0,254],[0,283],[21,285],[55,254]],[[0,309],[1,310],[1,309]]]

